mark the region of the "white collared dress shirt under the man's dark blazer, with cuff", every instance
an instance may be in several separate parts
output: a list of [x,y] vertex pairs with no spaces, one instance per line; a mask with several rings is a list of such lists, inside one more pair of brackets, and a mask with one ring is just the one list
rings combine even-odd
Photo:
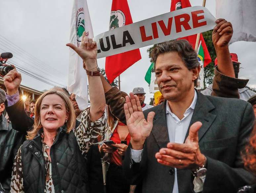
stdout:
[[[185,111],[184,117],[180,120],[170,109],[170,106],[166,104],[166,121],[168,128],[168,135],[170,142],[175,143],[184,143],[189,124],[191,122],[191,118],[194,112],[195,104],[197,101],[197,93],[194,91],[194,98],[190,105],[190,107]],[[142,150],[133,150],[131,151],[132,159],[135,162],[140,162]],[[173,193],[179,193],[178,190],[178,180],[177,180],[177,169],[175,168],[175,176],[174,176],[174,185],[173,185]]]

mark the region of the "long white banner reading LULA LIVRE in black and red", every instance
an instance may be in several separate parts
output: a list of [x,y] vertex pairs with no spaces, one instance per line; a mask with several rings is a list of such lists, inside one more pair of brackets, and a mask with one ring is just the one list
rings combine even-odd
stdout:
[[213,29],[214,16],[202,6],[188,7],[115,28],[97,35],[97,58]]

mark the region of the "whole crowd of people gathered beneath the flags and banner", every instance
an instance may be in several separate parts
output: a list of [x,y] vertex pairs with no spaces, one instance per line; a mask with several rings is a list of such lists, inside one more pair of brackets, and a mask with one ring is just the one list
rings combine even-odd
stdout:
[[202,92],[190,43],[157,44],[154,106],[142,87],[129,95],[111,87],[85,33],[79,47],[67,44],[88,75],[85,110],[60,87],[24,103],[21,74],[11,70],[0,89],[0,192],[256,192],[256,93],[238,79],[232,34],[230,22],[216,20],[215,76]]

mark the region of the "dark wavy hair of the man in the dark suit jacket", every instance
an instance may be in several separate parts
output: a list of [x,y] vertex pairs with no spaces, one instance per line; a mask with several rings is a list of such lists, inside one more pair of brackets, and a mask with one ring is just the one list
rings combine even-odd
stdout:
[[[187,40],[171,40],[157,44],[156,47],[152,50],[151,58],[154,63],[154,69],[156,58],[160,54],[168,52],[177,52],[189,70],[200,65],[197,59],[197,54]],[[197,79],[194,82],[196,84]]]

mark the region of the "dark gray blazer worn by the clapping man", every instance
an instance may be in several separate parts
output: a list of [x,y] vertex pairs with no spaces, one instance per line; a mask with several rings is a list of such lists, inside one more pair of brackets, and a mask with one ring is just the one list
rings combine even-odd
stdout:
[[[197,95],[190,126],[196,121],[202,122],[198,133],[199,147],[207,157],[203,193],[236,192],[239,187],[255,180],[243,169],[240,155],[254,125],[252,106],[240,99],[204,96],[199,92]],[[155,153],[169,142],[166,102],[144,111],[146,118],[150,111],[155,112],[155,117],[152,131],[144,144],[142,160],[133,162],[129,146],[123,169],[131,183],[138,185],[137,192],[172,193],[174,168],[159,164],[155,158]],[[179,193],[193,192],[190,170],[177,169],[177,178]]]

